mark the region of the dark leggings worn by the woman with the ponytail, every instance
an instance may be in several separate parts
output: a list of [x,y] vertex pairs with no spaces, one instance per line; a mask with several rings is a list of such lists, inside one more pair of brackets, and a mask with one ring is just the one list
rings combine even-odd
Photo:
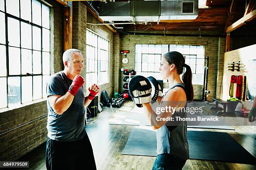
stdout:
[[163,153],[157,155],[152,170],[182,170],[187,160]]

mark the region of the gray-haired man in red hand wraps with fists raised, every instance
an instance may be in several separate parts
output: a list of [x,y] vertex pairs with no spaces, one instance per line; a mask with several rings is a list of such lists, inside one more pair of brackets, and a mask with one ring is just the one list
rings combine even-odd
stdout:
[[100,89],[92,84],[90,94],[84,97],[84,78],[80,75],[84,59],[79,50],[66,50],[62,60],[64,70],[51,75],[46,84],[46,169],[95,170],[92,145],[85,131],[85,108]]

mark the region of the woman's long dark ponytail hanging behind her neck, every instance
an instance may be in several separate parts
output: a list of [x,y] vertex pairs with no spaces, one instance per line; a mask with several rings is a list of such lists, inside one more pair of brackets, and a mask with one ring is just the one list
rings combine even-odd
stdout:
[[192,101],[194,99],[194,89],[192,86],[192,71],[189,65],[184,64],[186,72],[182,75],[182,81],[184,83],[187,95],[187,101]]

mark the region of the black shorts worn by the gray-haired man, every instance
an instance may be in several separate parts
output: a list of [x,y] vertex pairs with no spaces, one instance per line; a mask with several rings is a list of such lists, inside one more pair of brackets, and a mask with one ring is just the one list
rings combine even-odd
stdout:
[[47,137],[46,169],[96,170],[88,135],[76,141],[58,141]]

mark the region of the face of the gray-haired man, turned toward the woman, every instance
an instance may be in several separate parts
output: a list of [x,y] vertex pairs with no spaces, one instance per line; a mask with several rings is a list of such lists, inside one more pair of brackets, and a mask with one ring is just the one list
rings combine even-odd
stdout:
[[84,67],[83,55],[80,52],[74,52],[70,59],[70,62],[68,63],[69,73],[73,77],[75,77],[76,75],[80,75],[83,67]]

